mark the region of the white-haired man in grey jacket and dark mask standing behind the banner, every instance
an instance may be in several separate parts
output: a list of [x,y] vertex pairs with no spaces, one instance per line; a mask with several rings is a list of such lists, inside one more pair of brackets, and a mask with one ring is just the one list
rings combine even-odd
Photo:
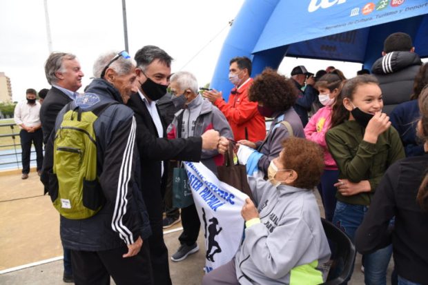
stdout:
[[[233,139],[233,132],[223,113],[208,99],[204,99],[197,90],[197,80],[191,72],[177,72],[171,76],[171,93],[175,97],[184,97],[184,109],[175,113],[171,125],[168,126],[168,138],[187,138],[201,135],[206,130],[218,130],[222,137]],[[202,150],[201,162],[213,173],[217,174],[217,166],[224,162],[224,157],[217,150]],[[195,204],[182,208],[183,233],[179,236],[180,246],[171,259],[180,262],[188,255],[199,250],[197,237],[200,230],[200,219]]]

